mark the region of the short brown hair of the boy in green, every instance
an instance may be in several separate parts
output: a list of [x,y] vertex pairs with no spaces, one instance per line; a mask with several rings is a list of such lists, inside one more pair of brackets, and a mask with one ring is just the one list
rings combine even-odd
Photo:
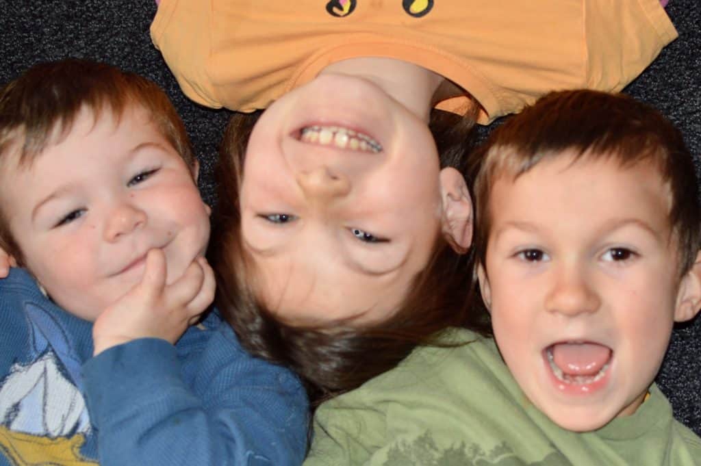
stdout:
[[679,254],[679,276],[690,270],[701,249],[701,214],[693,158],[681,132],[647,104],[594,90],[551,92],[541,97],[494,130],[472,153],[475,265],[486,260],[489,195],[496,180],[516,179],[540,160],[563,153],[589,160],[611,158],[621,167],[653,164],[669,187],[669,224],[671,239],[676,240],[670,246]]

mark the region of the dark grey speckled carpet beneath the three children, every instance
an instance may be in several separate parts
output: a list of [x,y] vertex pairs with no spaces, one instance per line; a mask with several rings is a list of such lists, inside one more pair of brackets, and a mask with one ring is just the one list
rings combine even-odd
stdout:
[[[212,170],[228,114],[198,107],[179,92],[151,46],[149,24],[155,11],[150,0],[0,0],[0,82],[36,62],[63,57],[103,60],[151,78],[168,91],[185,121],[202,163],[200,189],[212,202]],[[667,11],[679,39],[626,92],[662,110],[699,156],[701,2],[671,0]],[[676,417],[701,434],[701,319],[674,331],[658,383]]]

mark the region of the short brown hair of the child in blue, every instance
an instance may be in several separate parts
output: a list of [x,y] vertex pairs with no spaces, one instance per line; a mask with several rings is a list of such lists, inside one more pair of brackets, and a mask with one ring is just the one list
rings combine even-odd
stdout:
[[[158,85],[109,64],[67,59],[36,64],[0,90],[0,166],[12,153],[18,167],[30,167],[47,146],[68,135],[83,108],[97,121],[102,111],[120,117],[131,105],[146,109],[158,131],[193,165],[182,120]],[[0,247],[22,263],[1,202]]]

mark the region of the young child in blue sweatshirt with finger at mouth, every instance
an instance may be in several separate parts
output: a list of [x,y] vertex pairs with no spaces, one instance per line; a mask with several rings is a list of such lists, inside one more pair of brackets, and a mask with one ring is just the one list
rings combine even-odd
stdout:
[[215,281],[197,172],[144,78],[64,60],[0,92],[0,244],[50,298],[25,270],[0,280],[2,464],[304,458],[297,378],[203,314]]

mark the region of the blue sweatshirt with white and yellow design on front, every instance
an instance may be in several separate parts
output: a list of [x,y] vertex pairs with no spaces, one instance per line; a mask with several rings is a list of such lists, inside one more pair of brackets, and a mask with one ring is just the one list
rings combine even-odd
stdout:
[[32,277],[0,280],[0,465],[299,465],[308,403],[287,369],[247,354],[216,311],[176,345],[92,357],[92,323]]

